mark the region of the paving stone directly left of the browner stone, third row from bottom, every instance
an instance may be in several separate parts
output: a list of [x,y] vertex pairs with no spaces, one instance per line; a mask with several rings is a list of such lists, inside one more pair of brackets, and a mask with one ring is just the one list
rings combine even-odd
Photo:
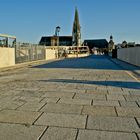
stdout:
[[83,106],[72,104],[48,103],[41,111],[49,113],[80,114]]

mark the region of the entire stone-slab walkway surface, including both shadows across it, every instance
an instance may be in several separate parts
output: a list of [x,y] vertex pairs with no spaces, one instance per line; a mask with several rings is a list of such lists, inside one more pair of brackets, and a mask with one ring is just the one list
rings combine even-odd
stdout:
[[105,56],[1,72],[0,140],[139,140],[136,72]]

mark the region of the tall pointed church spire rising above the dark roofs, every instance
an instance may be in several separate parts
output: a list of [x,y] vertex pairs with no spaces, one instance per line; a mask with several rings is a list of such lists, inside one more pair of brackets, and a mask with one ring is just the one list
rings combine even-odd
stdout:
[[75,9],[75,17],[73,22],[72,41],[73,46],[81,46],[81,27],[77,8]]

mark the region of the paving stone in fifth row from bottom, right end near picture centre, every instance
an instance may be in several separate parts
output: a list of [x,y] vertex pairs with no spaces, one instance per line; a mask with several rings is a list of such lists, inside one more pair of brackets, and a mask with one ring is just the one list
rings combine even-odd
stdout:
[[74,96],[75,93],[70,93],[70,92],[47,92],[45,93],[42,97],[58,97],[58,98],[62,98],[62,97],[66,97],[66,98],[72,98]]

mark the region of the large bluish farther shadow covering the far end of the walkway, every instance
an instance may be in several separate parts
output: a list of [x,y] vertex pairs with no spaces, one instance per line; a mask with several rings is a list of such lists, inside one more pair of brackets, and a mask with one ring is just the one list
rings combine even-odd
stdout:
[[[116,63],[110,60],[110,57],[91,55],[83,58],[67,58],[54,62],[38,65],[33,68],[69,68],[69,69],[103,69],[103,70],[124,70]],[[132,70],[140,70],[138,67],[132,67]]]

